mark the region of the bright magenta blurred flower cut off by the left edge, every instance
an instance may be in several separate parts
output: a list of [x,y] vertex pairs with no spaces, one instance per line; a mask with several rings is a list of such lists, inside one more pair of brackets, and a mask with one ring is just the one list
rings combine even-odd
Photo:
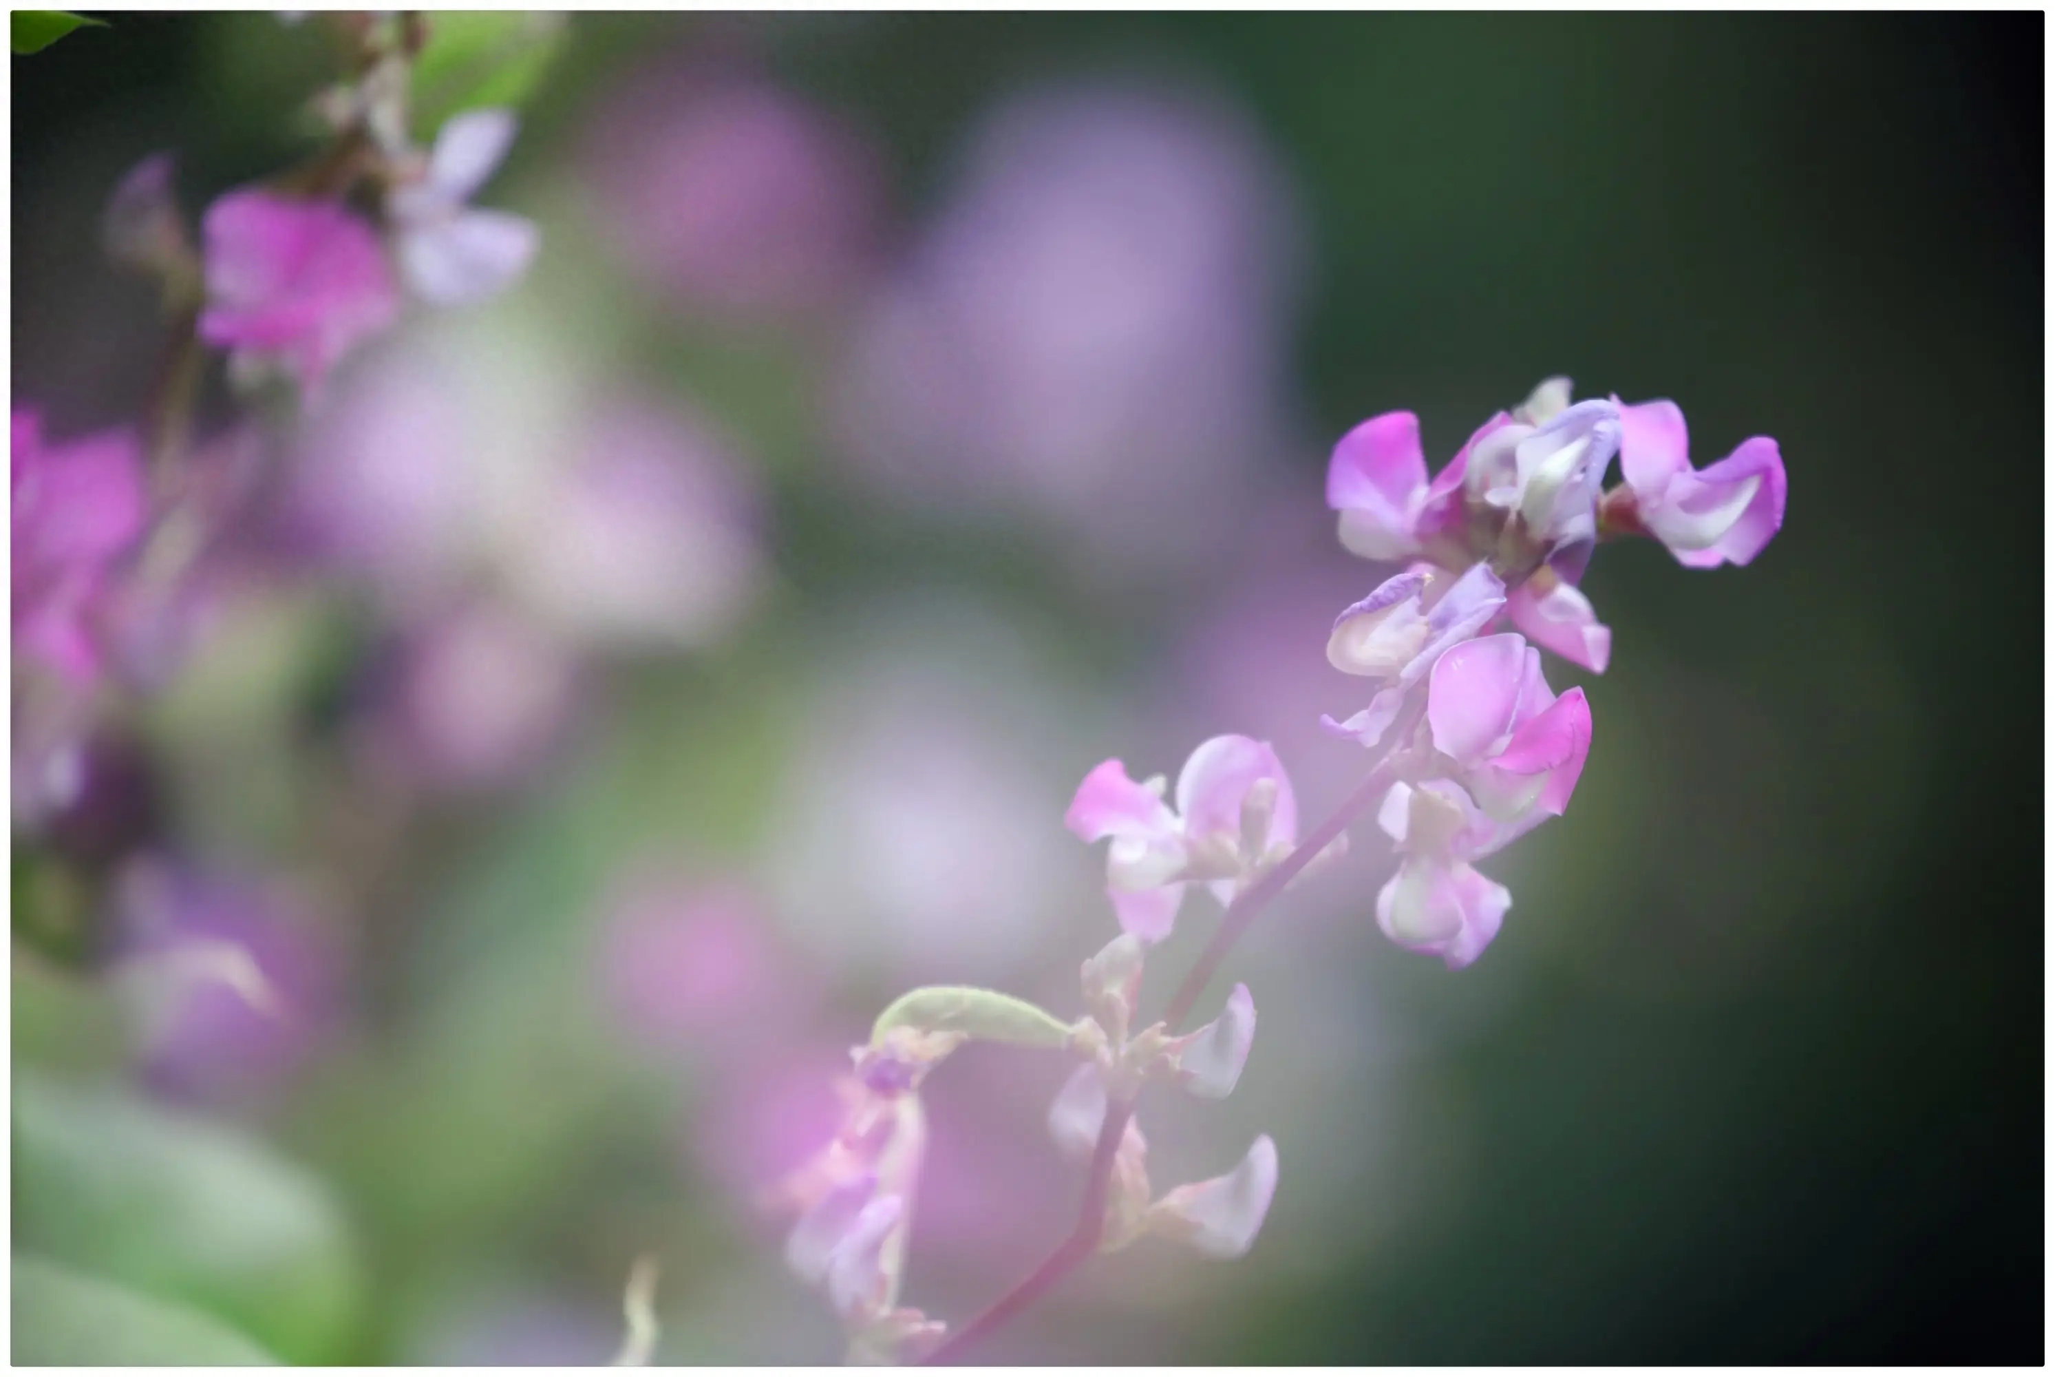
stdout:
[[41,417],[12,427],[14,645],[88,686],[101,649],[88,629],[109,569],[142,534],[142,454],[125,430],[45,446]]

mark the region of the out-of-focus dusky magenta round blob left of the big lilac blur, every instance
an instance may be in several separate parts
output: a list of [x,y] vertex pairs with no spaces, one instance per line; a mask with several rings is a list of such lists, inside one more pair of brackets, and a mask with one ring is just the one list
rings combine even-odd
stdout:
[[877,158],[777,86],[653,68],[598,113],[590,148],[608,238],[686,304],[789,314],[863,273]]

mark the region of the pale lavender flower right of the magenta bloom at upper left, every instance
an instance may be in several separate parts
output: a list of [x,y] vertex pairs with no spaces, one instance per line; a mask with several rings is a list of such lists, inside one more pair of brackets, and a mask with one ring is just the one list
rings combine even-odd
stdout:
[[419,181],[386,197],[401,275],[421,300],[442,306],[477,302],[514,284],[534,257],[532,220],[469,201],[506,158],[514,111],[466,111],[436,134]]

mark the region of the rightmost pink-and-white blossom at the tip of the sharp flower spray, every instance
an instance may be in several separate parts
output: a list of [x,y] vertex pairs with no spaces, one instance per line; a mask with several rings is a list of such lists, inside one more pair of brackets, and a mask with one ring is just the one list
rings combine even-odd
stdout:
[[1776,440],[1743,440],[1720,462],[1691,469],[1677,403],[1621,407],[1619,419],[1619,471],[1636,514],[1677,563],[1691,569],[1745,565],[1784,526],[1784,456]]

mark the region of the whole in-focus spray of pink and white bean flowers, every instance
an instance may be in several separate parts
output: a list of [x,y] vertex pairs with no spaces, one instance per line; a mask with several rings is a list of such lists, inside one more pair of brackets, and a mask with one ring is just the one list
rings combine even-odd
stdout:
[[[1607,489],[1615,456],[1626,481]],[[1593,549],[1646,534],[1687,567],[1749,563],[1784,520],[1784,464],[1773,440],[1755,438],[1693,469],[1673,403],[1572,403],[1570,382],[1552,378],[1494,415],[1432,479],[1418,419],[1371,417],[1336,446],[1328,504],[1346,549],[1404,563],[1344,608],[1328,639],[1330,664],[1371,680],[1373,695],[1346,721],[1321,723],[1379,750],[1381,762],[1305,841],[1284,765],[1247,736],[1202,742],[1175,789],[1161,775],[1134,781],[1118,758],[1085,775],[1064,826],[1110,843],[1106,892],[1124,929],[1083,966],[1085,1017],[1062,1024],[978,989],[902,997],[855,1052],[843,1132],[785,1188],[799,1211],[787,1260],[828,1289],[853,1356],[908,1359],[941,1336],[921,1311],[898,1309],[898,1276],[921,1165],[919,1085],[966,1038],[1081,1056],[1048,1114],[1056,1147],[1091,1171],[1073,1235],[1079,1252],[1155,1235],[1215,1258],[1245,1254],[1278,1184],[1270,1137],[1233,1171],[1157,1196],[1134,1118],[1151,1081],[1225,1097],[1256,1036],[1243,984],[1196,1032],[1138,1026],[1143,962],[1171,933],[1186,890],[1206,888],[1227,919],[1171,1019],[1190,1009],[1249,910],[1338,855],[1346,824],[1371,808],[1397,851],[1377,925],[1451,968],[1475,962],[1512,896],[1473,861],[1562,816],[1591,752],[1591,703],[1582,689],[1549,689],[1541,649],[1605,670],[1611,631],[1578,592]],[[1071,1262],[1058,1252],[1038,1278]],[[1032,1295],[1038,1278],[1015,1295]]]

